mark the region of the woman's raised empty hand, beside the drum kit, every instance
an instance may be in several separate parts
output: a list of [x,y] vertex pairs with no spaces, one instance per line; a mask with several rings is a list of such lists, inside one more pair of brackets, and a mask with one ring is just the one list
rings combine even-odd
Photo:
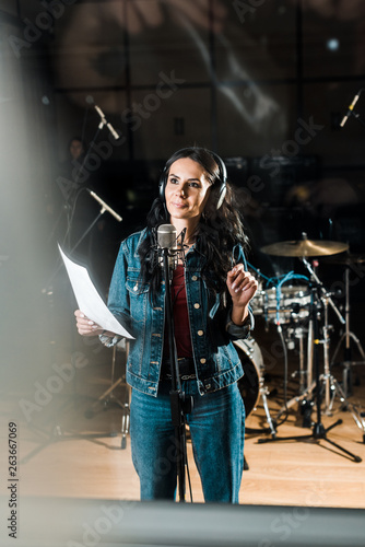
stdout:
[[255,277],[245,270],[243,264],[237,264],[227,274],[227,288],[232,296],[232,321],[242,325],[248,315],[248,303],[254,298],[258,282]]

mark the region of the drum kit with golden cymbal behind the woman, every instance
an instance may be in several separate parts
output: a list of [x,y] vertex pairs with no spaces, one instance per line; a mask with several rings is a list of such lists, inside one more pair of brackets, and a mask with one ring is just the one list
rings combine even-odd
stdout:
[[[349,251],[348,244],[321,240],[310,241],[307,238],[306,234],[302,234],[302,240],[299,241],[274,243],[261,247],[260,251],[268,255],[301,259],[305,269],[308,271],[308,277],[295,275],[291,271],[285,276],[269,279],[254,266],[249,265],[249,267],[256,271],[259,281],[259,289],[251,301],[254,315],[263,317],[267,325],[273,324],[276,326],[281,340],[285,345],[285,352],[287,349],[295,348],[295,339],[297,339],[299,357],[299,370],[293,374],[293,376],[298,375],[299,377],[298,394],[287,401],[285,391],[285,404],[279,410],[276,417],[272,419],[268,406],[269,391],[264,382],[266,363],[262,352],[256,340],[251,337],[246,340],[237,340],[235,342],[245,370],[245,376],[239,382],[239,387],[246,406],[246,416],[249,416],[256,408],[258,400],[261,397],[267,416],[267,422],[269,424],[268,432],[272,435],[272,439],[261,439],[259,442],[279,440],[276,439],[278,420],[283,414],[286,414],[287,416],[289,409],[296,404],[302,405],[303,408],[304,405],[311,399],[313,408],[315,404],[314,399],[317,399],[317,407],[319,405],[322,407],[325,403],[325,412],[326,415],[331,416],[335,396],[340,398],[341,409],[346,409],[352,412],[356,424],[363,431],[363,442],[365,442],[364,412],[362,412],[356,405],[353,405],[348,400],[349,370],[351,370],[352,364],[365,364],[365,352],[363,347],[356,336],[350,331],[349,266],[354,263],[365,263],[365,256],[356,257],[355,255],[351,256],[348,253],[344,257],[338,258],[337,260],[337,264],[343,264],[346,268],[344,283],[345,317],[343,317],[333,302],[330,291],[326,290],[323,283],[318,278],[315,271],[316,267],[311,266],[307,258],[319,256],[326,258],[331,255],[339,255]],[[345,361],[343,363],[344,374],[342,385],[331,373],[329,357],[331,326],[328,324],[329,306],[333,310],[345,329],[333,354],[334,358],[341,347],[341,344],[345,340],[345,356],[348,357],[345,357]],[[305,338],[307,338],[306,352],[304,346]],[[352,362],[349,357],[351,340],[357,345],[362,359],[356,363]],[[322,346],[322,373],[319,372],[319,346]],[[284,382],[285,387],[287,377],[285,377]],[[329,441],[326,437],[327,430],[323,430],[322,424],[320,423],[320,411],[321,410],[317,408],[317,418],[319,414],[319,423],[317,422],[317,434],[315,434],[315,438]],[[340,422],[341,420],[331,426],[331,428]],[[320,431],[320,434],[318,431]],[[332,441],[329,442],[334,444]],[[358,461],[357,456],[354,456],[339,445],[335,446],[350,455],[355,462]]]

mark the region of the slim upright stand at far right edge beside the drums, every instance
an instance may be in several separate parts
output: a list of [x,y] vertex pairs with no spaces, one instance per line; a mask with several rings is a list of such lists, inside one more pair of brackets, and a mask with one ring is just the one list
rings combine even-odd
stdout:
[[[365,352],[363,349],[363,346],[361,345],[358,338],[350,330],[350,267],[349,265],[345,265],[345,274],[344,274],[344,279],[345,279],[345,307],[344,307],[344,317],[345,317],[345,329],[344,333],[342,334],[333,357],[332,357],[332,363],[333,364],[337,358],[337,354],[340,350],[340,347],[345,340],[345,348],[344,348],[344,370],[343,370],[343,392],[346,396],[351,395],[351,384],[349,386],[349,379],[351,379],[351,366],[355,364],[365,364]],[[353,340],[358,349],[358,352],[362,357],[362,361],[352,361],[351,359],[351,340]]]

